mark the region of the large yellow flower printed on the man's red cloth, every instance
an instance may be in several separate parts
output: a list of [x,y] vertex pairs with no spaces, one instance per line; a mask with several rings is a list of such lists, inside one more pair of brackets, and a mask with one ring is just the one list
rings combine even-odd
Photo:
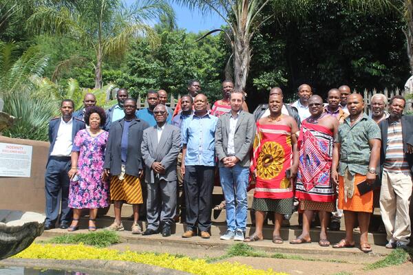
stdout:
[[266,142],[257,161],[257,175],[262,179],[277,177],[284,164],[284,148],[277,142]]

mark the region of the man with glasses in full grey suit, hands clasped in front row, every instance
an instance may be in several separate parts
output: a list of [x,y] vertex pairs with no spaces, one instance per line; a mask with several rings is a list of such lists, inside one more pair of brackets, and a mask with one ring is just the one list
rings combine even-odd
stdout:
[[156,125],[143,131],[141,145],[147,183],[147,230],[143,235],[171,236],[171,225],[176,214],[176,162],[181,147],[180,129],[167,124],[168,111],[158,104],[153,109]]

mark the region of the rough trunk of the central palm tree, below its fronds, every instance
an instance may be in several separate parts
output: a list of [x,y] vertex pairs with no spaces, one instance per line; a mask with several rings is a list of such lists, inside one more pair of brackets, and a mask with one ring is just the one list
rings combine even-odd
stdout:
[[245,89],[248,77],[249,64],[251,61],[251,50],[249,39],[245,36],[234,35],[234,84],[235,89]]

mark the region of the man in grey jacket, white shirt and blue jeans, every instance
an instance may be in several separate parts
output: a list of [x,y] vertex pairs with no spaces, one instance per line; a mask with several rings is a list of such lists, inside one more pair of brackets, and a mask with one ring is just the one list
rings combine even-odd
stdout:
[[220,160],[220,181],[226,201],[228,228],[221,239],[244,241],[246,188],[250,151],[255,137],[255,120],[254,115],[242,111],[244,91],[231,91],[229,100],[231,111],[220,116],[215,129],[215,152]]

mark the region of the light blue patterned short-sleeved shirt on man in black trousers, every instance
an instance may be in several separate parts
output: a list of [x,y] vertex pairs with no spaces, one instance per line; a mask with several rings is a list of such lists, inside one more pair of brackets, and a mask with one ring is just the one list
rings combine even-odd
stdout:
[[182,144],[187,144],[185,165],[215,166],[215,126],[218,118],[206,113],[191,115],[182,125]]

